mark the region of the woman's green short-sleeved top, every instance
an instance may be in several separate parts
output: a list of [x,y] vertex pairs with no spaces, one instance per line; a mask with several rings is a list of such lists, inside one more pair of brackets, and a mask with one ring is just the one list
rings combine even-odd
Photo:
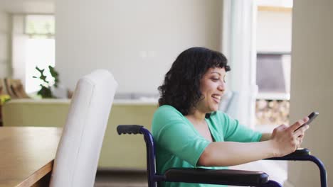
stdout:
[[[260,132],[239,125],[238,120],[217,111],[206,118],[206,123],[215,142],[258,142]],[[203,138],[191,122],[176,108],[161,106],[154,113],[152,135],[156,150],[157,173],[164,174],[172,167],[225,169],[225,167],[196,166],[203,150],[210,141]],[[162,182],[162,187],[210,187],[218,185]]]

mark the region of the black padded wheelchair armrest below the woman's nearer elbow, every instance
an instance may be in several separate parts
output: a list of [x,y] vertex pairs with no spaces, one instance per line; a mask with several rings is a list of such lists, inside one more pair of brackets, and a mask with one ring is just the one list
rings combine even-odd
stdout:
[[260,186],[268,182],[268,174],[233,169],[171,168],[166,170],[164,179],[169,182]]

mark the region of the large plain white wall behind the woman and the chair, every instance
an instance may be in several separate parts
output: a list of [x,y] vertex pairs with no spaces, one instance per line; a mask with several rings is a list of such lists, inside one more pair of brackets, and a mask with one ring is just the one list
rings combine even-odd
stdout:
[[188,47],[220,49],[220,0],[58,0],[56,69],[74,88],[93,69],[109,69],[118,92],[157,94]]

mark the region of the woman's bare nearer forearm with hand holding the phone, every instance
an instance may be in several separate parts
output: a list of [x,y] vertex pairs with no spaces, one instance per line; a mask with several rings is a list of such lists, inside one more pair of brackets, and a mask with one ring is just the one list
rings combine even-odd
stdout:
[[[294,152],[309,125],[299,128],[309,118],[299,120],[290,127],[280,125],[273,130],[270,140],[263,142],[211,142],[201,154],[199,166],[233,166],[270,157],[282,157]],[[268,136],[265,135],[264,138]]]

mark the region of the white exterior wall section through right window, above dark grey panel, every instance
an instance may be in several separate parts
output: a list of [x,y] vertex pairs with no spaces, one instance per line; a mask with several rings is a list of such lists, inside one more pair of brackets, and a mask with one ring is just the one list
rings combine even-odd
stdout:
[[291,52],[291,36],[291,11],[258,11],[258,52]]

